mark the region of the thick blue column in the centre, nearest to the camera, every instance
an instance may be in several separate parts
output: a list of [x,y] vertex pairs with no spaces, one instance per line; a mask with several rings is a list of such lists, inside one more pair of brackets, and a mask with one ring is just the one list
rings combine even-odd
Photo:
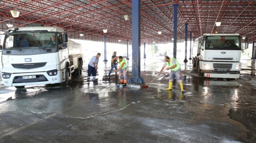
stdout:
[[140,0],[132,0],[131,7],[132,72],[128,82],[142,84],[144,80],[140,77]]

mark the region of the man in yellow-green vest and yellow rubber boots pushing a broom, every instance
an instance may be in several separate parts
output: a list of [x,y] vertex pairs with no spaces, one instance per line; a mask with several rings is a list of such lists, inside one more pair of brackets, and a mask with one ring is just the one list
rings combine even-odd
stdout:
[[170,58],[168,56],[164,57],[164,61],[165,63],[161,71],[158,73],[158,76],[163,72],[166,65],[168,66],[166,70],[171,69],[170,76],[169,76],[169,88],[167,88],[166,90],[172,90],[173,79],[174,77],[176,77],[177,82],[180,83],[181,91],[184,92],[182,75],[181,75],[181,65],[178,63],[178,61],[175,58]]

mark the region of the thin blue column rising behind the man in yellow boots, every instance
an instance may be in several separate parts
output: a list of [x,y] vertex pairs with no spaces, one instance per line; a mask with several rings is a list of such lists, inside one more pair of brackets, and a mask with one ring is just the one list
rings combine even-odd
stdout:
[[173,4],[174,6],[174,12],[173,12],[173,57],[176,58],[177,54],[177,9],[178,4]]

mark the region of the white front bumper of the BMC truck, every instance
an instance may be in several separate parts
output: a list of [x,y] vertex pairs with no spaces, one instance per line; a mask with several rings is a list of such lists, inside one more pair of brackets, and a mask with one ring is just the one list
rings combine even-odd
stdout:
[[[36,78],[23,79],[23,76],[36,76]],[[4,86],[56,84],[62,81],[62,71],[58,70],[55,76],[49,76],[46,72],[11,74],[8,79],[2,77],[2,81]]]

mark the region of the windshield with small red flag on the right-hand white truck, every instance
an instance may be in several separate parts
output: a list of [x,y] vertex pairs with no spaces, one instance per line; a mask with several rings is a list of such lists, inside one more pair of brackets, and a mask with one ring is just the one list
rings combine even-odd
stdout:
[[205,50],[241,50],[239,36],[207,36]]

